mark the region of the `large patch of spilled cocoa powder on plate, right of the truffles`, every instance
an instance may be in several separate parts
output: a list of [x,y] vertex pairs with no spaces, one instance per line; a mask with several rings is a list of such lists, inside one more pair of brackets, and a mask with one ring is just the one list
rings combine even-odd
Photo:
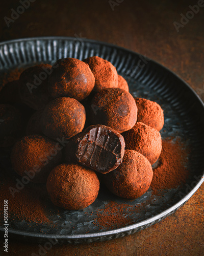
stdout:
[[163,189],[176,188],[186,182],[189,170],[185,167],[188,151],[180,140],[168,138],[162,141],[159,166],[153,169],[152,194],[159,195]]

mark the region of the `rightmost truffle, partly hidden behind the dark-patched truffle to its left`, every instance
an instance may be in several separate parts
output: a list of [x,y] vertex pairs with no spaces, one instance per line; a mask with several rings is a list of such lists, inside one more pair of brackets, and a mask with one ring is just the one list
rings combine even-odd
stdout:
[[138,108],[137,120],[160,131],[164,125],[164,113],[161,106],[148,99],[135,98]]

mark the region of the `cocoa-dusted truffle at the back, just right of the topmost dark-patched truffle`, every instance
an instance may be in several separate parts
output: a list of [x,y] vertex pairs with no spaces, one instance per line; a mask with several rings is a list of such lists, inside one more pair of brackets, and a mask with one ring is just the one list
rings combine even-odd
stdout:
[[97,56],[89,57],[84,61],[88,63],[95,77],[94,91],[118,87],[118,73],[110,61]]

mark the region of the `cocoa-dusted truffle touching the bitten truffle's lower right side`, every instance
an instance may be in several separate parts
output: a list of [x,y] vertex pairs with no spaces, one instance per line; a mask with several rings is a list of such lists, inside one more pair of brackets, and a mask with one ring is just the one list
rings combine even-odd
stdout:
[[116,196],[136,199],[149,188],[153,171],[149,161],[134,150],[125,150],[122,163],[103,175],[107,188]]

